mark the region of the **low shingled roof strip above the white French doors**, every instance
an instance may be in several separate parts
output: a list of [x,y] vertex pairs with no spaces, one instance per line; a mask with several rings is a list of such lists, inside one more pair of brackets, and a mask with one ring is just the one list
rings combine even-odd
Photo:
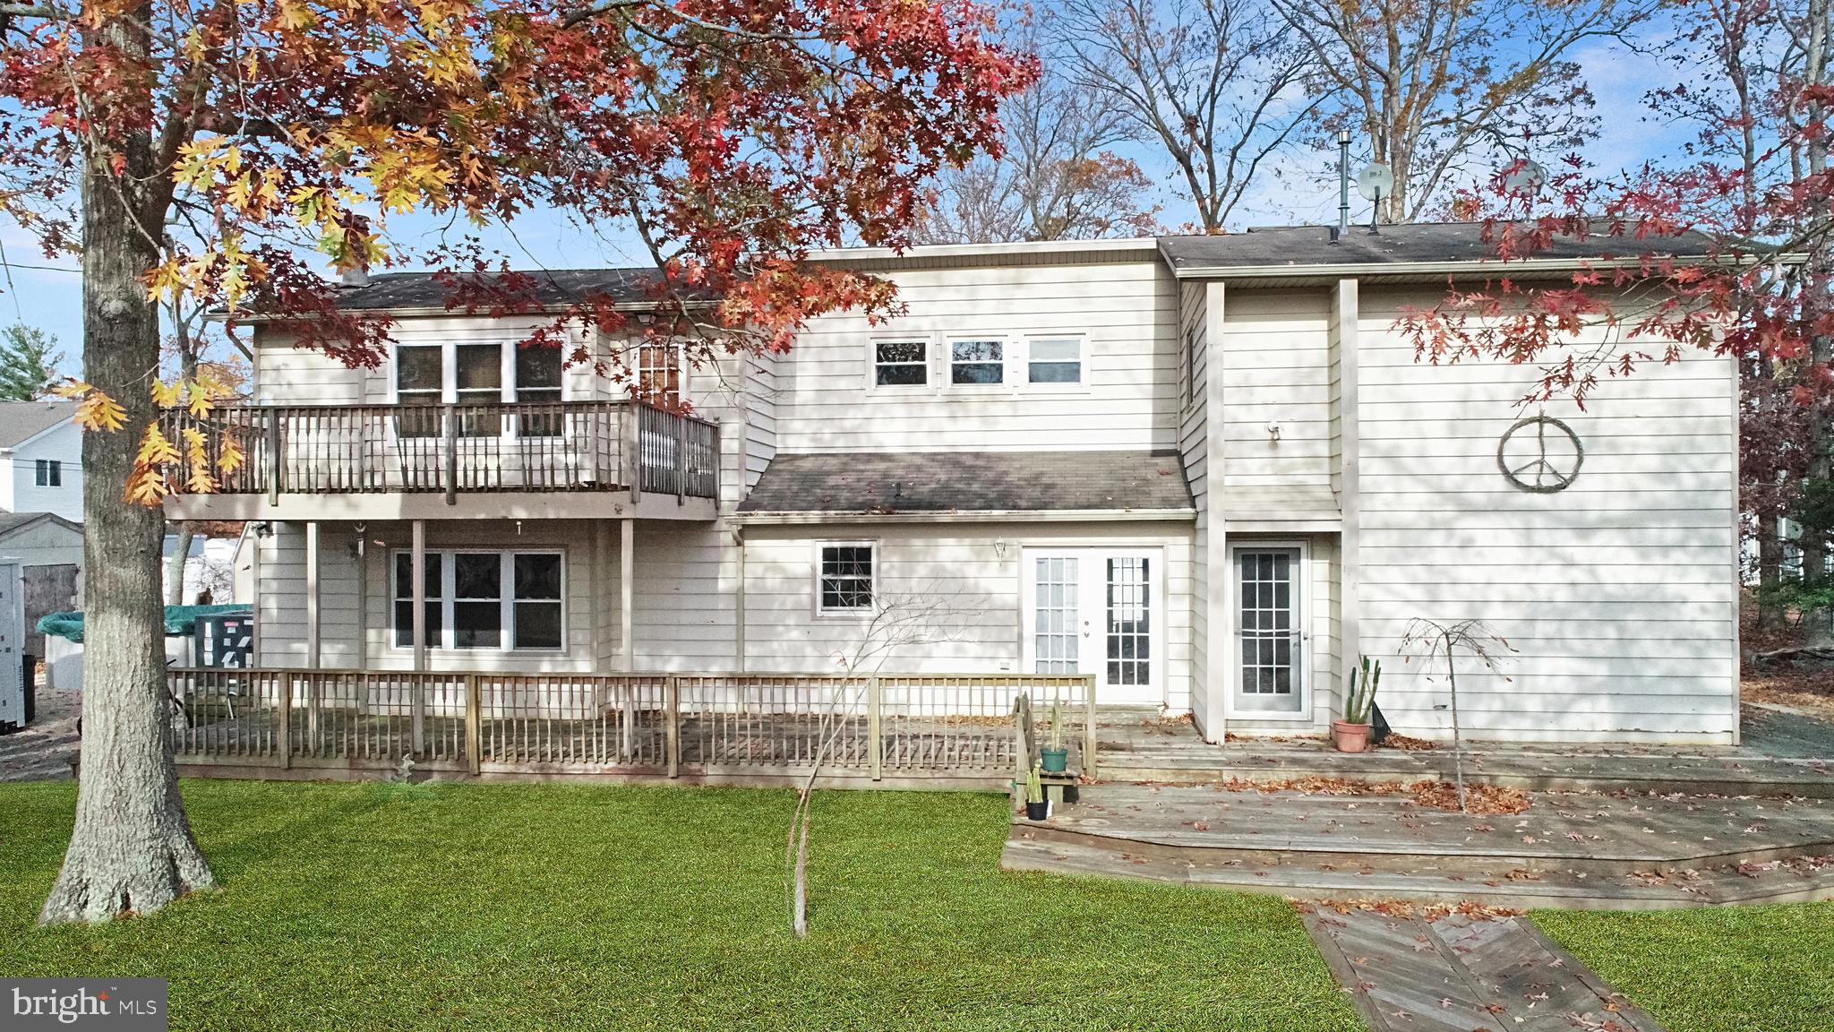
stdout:
[[1161,452],[895,452],[778,455],[739,505],[759,512],[1187,510]]

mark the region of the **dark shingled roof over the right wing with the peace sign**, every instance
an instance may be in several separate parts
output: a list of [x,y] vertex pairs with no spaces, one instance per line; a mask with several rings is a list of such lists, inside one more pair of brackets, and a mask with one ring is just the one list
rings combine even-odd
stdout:
[[1509,270],[1531,264],[1574,268],[1588,261],[1636,259],[1641,253],[1704,257],[1711,252],[1711,241],[1695,231],[1643,241],[1603,235],[1586,241],[1561,237],[1533,257],[1506,264],[1497,257],[1495,244],[1484,241],[1482,222],[1383,226],[1379,233],[1370,233],[1368,226],[1352,226],[1337,242],[1331,242],[1331,226],[1280,226],[1212,237],[1161,237],[1159,253],[1179,277],[1229,279],[1302,277],[1326,272],[1443,275],[1480,263]]

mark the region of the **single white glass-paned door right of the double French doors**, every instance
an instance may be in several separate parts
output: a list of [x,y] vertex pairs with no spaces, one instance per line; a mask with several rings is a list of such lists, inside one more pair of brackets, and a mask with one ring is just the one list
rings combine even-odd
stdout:
[[1304,549],[1238,545],[1231,562],[1236,624],[1234,711],[1306,716]]

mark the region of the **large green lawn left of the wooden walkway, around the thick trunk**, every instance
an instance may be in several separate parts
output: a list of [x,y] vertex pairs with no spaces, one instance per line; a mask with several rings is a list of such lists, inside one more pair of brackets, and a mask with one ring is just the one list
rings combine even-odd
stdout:
[[196,780],[220,891],[39,931],[75,786],[4,784],[0,973],[167,977],[172,1028],[1361,1028],[1287,903],[1001,874],[989,795],[820,795],[796,940],[790,801]]

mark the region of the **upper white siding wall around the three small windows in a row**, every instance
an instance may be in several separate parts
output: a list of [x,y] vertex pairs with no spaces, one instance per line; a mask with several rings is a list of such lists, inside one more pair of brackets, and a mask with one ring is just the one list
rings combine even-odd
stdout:
[[[778,360],[776,448],[1152,450],[1177,446],[1176,286],[1159,261],[889,272],[904,314],[811,320]],[[873,384],[871,345],[924,340],[930,387]],[[1027,376],[1027,340],[1080,338],[1078,389]],[[954,342],[1001,342],[1000,386],[952,384]]]

